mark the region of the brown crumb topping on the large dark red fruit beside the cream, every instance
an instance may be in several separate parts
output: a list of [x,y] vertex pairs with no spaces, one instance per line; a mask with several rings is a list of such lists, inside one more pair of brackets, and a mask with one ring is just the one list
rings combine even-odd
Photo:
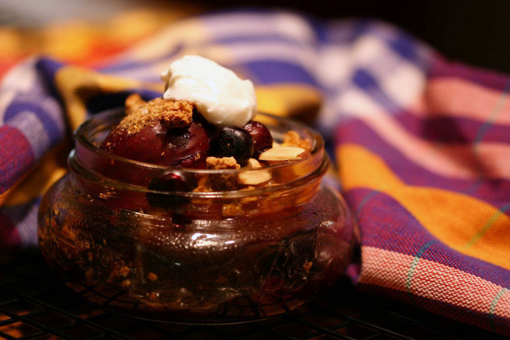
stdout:
[[138,106],[125,116],[115,130],[131,135],[140,132],[146,125],[156,120],[161,120],[161,125],[167,129],[181,129],[190,126],[192,115],[193,105],[190,102],[156,98]]

